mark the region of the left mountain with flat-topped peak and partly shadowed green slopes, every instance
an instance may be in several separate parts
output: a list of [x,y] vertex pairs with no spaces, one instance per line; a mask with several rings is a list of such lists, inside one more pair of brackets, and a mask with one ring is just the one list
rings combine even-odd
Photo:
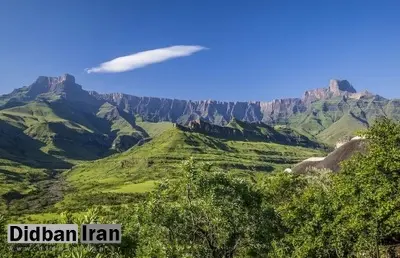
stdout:
[[[0,103],[0,151],[15,161],[92,160],[148,137],[132,114],[94,98],[68,74],[40,76],[1,96]],[[27,145],[35,155],[27,152]]]

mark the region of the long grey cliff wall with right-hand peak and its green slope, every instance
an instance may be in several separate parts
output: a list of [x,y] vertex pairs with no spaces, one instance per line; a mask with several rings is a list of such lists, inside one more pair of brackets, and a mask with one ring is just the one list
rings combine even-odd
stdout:
[[302,98],[270,102],[190,101],[122,93],[90,94],[147,121],[187,124],[202,118],[216,125],[227,125],[235,118],[286,125],[329,144],[368,127],[378,116],[400,119],[400,100],[388,100],[368,91],[357,92],[346,80],[331,80],[328,87],[306,91]]

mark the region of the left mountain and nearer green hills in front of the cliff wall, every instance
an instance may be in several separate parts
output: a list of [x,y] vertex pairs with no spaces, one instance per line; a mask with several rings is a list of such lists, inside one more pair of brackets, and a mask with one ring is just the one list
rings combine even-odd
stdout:
[[191,156],[265,173],[322,152],[291,129],[263,123],[232,120],[215,135],[149,122],[129,102],[84,91],[70,75],[39,77],[0,100],[0,205],[13,215],[136,201]]

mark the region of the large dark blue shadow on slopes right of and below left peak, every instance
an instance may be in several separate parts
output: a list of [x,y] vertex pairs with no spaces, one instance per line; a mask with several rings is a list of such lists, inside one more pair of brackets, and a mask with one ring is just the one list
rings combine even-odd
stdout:
[[[135,125],[135,118],[123,110],[117,109],[118,113],[110,109],[107,118],[97,116],[100,107],[106,102],[98,101],[96,104],[83,102],[69,102],[65,100],[49,102],[48,105],[53,112],[76,126],[84,126],[92,131],[79,132],[65,126],[63,123],[49,124],[50,129],[57,133],[53,139],[54,145],[62,151],[52,151],[54,155],[65,156],[76,160],[94,160],[113,154],[111,148],[117,139],[117,131],[113,130],[113,122],[123,118],[129,125],[140,132],[144,137],[149,137],[143,128]],[[132,131],[133,131],[132,130]],[[138,141],[137,137],[126,135],[125,149],[129,149]]]

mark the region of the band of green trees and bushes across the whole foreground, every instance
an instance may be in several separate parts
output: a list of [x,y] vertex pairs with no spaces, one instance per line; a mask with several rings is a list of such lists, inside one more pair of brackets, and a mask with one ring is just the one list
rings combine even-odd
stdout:
[[69,245],[32,257],[398,257],[400,124],[378,120],[365,136],[366,152],[340,173],[257,178],[189,159],[179,179],[158,183],[143,200],[52,220],[122,223],[122,246]]

